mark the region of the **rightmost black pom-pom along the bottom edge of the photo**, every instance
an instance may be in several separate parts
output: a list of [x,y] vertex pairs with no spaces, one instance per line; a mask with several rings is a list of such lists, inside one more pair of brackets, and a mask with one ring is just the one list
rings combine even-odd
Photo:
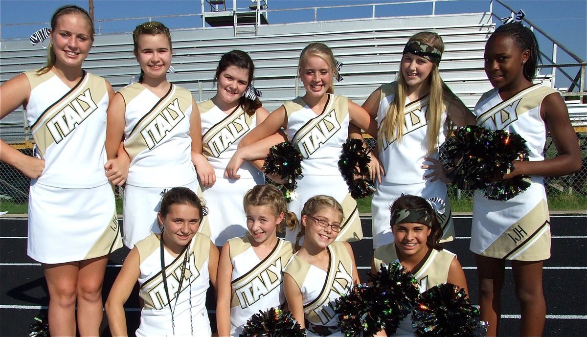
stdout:
[[485,323],[479,309],[454,284],[438,284],[421,294],[411,314],[419,337],[483,337]]

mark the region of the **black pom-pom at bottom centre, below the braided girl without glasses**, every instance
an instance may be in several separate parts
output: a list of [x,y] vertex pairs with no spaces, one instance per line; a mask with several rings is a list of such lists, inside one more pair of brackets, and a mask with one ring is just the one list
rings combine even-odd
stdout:
[[291,312],[269,308],[259,311],[247,321],[239,337],[302,337],[306,336]]

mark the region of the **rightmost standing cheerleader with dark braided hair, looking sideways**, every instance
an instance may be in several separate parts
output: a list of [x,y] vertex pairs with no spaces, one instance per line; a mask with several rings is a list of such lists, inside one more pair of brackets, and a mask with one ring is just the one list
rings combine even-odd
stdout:
[[[529,161],[514,161],[502,179],[530,176],[531,186],[507,201],[489,200],[481,191],[473,199],[471,251],[477,259],[481,321],[487,336],[498,333],[505,261],[510,260],[521,306],[521,336],[541,336],[546,304],[542,266],[550,257],[548,204],[543,177],[581,169],[581,152],[568,111],[555,89],[532,84],[538,65],[538,42],[521,23],[495,29],[485,45],[485,73],[494,89],[475,106],[477,125],[507,130],[526,140]],[[544,157],[550,133],[558,155]]]

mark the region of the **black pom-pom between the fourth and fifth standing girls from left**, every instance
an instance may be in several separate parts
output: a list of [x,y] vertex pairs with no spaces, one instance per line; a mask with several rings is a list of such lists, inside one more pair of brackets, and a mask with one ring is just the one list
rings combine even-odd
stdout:
[[371,180],[355,178],[369,176],[369,161],[369,152],[363,147],[362,140],[349,138],[342,145],[338,167],[349,187],[350,196],[355,199],[368,197],[375,191]]

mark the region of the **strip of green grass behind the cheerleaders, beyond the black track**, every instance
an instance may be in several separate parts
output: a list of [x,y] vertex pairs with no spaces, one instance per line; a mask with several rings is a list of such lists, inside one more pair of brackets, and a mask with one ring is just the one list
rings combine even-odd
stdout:
[[[463,192],[461,198],[457,199],[456,193],[450,191],[449,197],[453,212],[470,212],[473,210],[472,193]],[[359,207],[359,213],[371,213],[371,198],[357,200],[357,206]],[[587,210],[587,196],[582,196],[579,193],[569,196],[566,192],[549,191],[548,207],[551,211],[585,211]],[[0,202],[0,211],[8,211],[9,214],[26,214],[27,209],[27,204],[17,204],[11,201]],[[116,199],[116,213],[122,214],[122,199]]]

